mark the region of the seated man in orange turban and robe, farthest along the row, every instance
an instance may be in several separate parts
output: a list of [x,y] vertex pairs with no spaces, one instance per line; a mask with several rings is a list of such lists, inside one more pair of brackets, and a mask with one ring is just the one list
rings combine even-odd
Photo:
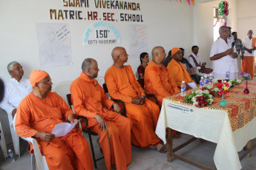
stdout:
[[[167,69],[169,75],[171,75],[172,78],[174,78],[175,83],[180,88],[181,82],[185,81],[187,89],[190,88],[188,86],[188,83],[194,82],[190,75],[188,74],[186,67],[180,63],[180,60],[183,58],[182,52],[179,48],[174,47],[171,50],[171,57],[172,60],[168,64]],[[195,82],[194,82],[195,85]]]

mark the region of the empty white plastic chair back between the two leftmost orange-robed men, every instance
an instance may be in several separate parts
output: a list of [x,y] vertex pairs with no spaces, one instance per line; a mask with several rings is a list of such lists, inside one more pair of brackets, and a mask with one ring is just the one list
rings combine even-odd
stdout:
[[67,97],[66,95],[70,94],[70,84],[72,81],[62,81],[59,84],[54,85],[53,84],[53,92],[56,92],[58,95],[60,95],[66,103]]

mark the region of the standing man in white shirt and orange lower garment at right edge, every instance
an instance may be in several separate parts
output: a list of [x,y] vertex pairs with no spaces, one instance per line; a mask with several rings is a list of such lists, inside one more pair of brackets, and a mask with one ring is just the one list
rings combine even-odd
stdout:
[[252,30],[247,33],[248,37],[243,39],[244,55],[241,61],[242,72],[247,72],[251,75],[251,80],[253,79],[253,74],[255,73],[255,38],[252,37]]

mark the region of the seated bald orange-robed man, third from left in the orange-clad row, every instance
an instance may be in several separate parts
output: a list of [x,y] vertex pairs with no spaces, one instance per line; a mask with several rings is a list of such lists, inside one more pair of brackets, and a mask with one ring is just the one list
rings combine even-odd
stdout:
[[105,73],[105,82],[111,98],[125,102],[126,115],[134,123],[131,129],[131,143],[141,148],[152,148],[166,152],[155,133],[160,115],[159,106],[145,98],[145,92],[135,78],[131,66],[125,66],[128,54],[123,47],[112,50],[113,66]]

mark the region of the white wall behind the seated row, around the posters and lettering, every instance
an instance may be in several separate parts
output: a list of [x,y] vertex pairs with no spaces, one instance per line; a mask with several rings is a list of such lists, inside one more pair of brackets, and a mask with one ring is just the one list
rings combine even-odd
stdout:
[[[128,0],[127,0],[128,1]],[[172,47],[183,47],[190,52],[193,36],[193,6],[180,3],[180,1],[155,1],[137,0],[140,3],[140,13],[143,23],[112,22],[119,31],[122,44],[129,53],[128,24],[145,24],[148,27],[149,53],[155,46],[163,46],[168,52]],[[90,0],[90,8],[96,10],[94,1]],[[29,78],[33,69],[47,71],[53,84],[59,81],[73,81],[81,72],[81,64],[84,58],[95,58],[99,63],[99,75],[104,76],[106,69],[113,64],[111,50],[113,45],[83,47],[82,38],[85,30],[95,21],[79,20],[50,20],[49,9],[63,9],[62,0],[27,0],[0,2],[0,70],[4,81],[10,77],[7,72],[7,64],[10,61],[19,61],[24,67],[24,77]],[[72,8],[70,8],[72,9]],[[81,10],[74,8],[73,10]],[[102,12],[104,10],[97,9]],[[105,10],[111,12],[111,10]],[[131,10],[114,10],[114,13],[133,13]],[[70,24],[70,40],[73,65],[62,67],[42,68],[39,64],[39,48],[36,35],[36,23],[68,23]],[[189,54],[188,54],[189,55]],[[129,58],[128,63],[136,71],[140,64],[140,58]]]

